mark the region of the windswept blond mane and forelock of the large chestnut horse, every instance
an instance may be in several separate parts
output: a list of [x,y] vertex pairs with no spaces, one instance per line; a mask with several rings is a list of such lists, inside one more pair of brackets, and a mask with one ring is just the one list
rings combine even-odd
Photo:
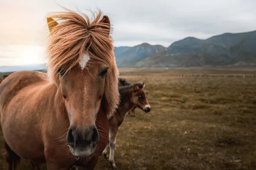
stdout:
[[[109,66],[105,79],[105,111],[111,116],[119,102],[118,80],[113,42],[110,36],[111,25],[108,17],[102,18],[102,12],[93,13],[94,20],[90,22],[86,14],[78,14],[67,8],[66,12],[52,14],[52,27],[48,37],[48,75],[58,82],[59,69],[66,74],[76,64],[82,61],[84,54],[90,59],[96,59]],[[107,22],[106,22],[107,20]]]

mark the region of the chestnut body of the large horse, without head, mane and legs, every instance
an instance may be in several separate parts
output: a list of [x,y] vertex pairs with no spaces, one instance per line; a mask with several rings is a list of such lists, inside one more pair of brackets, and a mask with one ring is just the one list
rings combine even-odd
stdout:
[[[37,71],[18,71],[5,79],[1,83],[0,89],[0,103],[4,106],[0,105],[3,113],[1,123],[4,125],[8,122],[8,126],[3,126],[2,129],[5,134],[11,134],[5,136],[5,142],[17,155],[36,163],[46,162],[46,159],[48,161],[50,159],[69,168],[73,164],[90,166],[88,162],[95,161],[96,157],[94,156],[88,157],[86,161],[76,159],[67,147],[66,130],[70,126],[67,121],[68,115],[63,114],[65,108],[63,100],[61,100],[61,93],[59,93],[60,88],[49,82],[47,74]],[[40,100],[42,98],[44,99]],[[15,110],[8,107],[12,105],[15,105]],[[47,106],[44,107],[43,112],[38,110],[41,106]],[[99,136],[103,137],[99,140],[94,152],[96,156],[101,154],[105,148],[102,146],[108,142],[104,138],[104,136],[108,136],[108,118],[106,114],[102,113],[99,112],[96,121]],[[9,121],[10,117],[15,117],[15,119]],[[33,122],[29,123],[30,120]],[[20,129],[22,129],[21,133],[15,133]],[[58,144],[59,148],[57,150],[52,148],[56,147],[52,143]],[[24,147],[24,144],[29,147]]]

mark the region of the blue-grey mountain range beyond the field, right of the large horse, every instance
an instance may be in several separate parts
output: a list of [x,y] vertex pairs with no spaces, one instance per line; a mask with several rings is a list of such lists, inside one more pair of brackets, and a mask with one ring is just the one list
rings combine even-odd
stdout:
[[200,40],[187,37],[168,48],[143,43],[117,47],[119,68],[256,65],[256,31],[225,33]]

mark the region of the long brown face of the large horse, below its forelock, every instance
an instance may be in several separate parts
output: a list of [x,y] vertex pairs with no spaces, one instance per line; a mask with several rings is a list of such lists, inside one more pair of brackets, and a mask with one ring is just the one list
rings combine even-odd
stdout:
[[86,68],[77,64],[60,79],[62,97],[70,119],[67,142],[76,157],[93,154],[99,141],[95,125],[104,95],[108,65],[90,60]]

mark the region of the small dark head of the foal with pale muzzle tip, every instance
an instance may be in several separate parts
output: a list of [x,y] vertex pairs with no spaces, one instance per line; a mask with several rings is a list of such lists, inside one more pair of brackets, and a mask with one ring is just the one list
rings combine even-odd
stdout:
[[146,98],[146,94],[143,91],[145,87],[145,83],[142,84],[143,87],[140,88],[138,85],[134,85],[133,87],[133,93],[132,93],[132,100],[134,102],[134,105],[137,108],[140,108],[141,110],[145,111],[146,113],[150,112],[151,107],[148,104],[148,100]]

